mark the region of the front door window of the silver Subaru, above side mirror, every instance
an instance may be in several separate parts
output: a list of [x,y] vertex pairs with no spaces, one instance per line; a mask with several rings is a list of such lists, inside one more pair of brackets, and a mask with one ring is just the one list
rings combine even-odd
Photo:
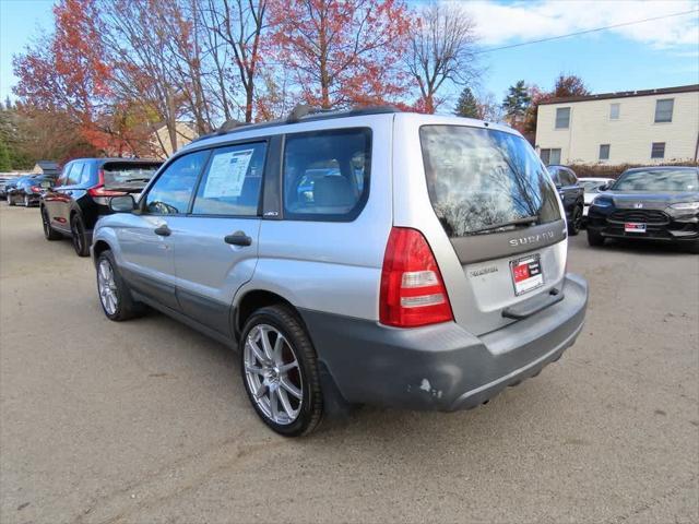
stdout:
[[187,213],[197,178],[208,158],[209,151],[198,151],[174,160],[145,195],[144,211],[156,215]]

